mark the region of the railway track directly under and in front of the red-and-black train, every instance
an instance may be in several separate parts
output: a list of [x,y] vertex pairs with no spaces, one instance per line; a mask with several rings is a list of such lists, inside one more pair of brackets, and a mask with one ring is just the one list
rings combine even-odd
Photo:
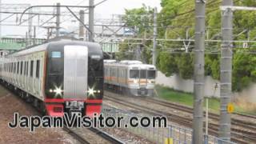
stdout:
[[[81,134],[82,130],[79,130],[78,128],[70,129],[67,126],[64,126],[63,129],[66,130],[69,134],[71,134],[79,142],[84,143],[84,144],[91,143],[91,139],[88,140],[86,137],[82,136],[82,134]],[[118,140],[117,138],[114,138],[113,136],[111,136],[110,134],[107,134],[106,132],[104,132],[102,130],[99,130],[96,128],[89,128],[87,130],[90,130],[92,133],[97,134],[98,136],[103,138],[103,140],[97,139],[97,141],[101,141],[104,143],[109,142],[109,143],[115,143],[115,144],[124,144],[124,142]],[[87,134],[88,134],[88,132],[87,132]]]

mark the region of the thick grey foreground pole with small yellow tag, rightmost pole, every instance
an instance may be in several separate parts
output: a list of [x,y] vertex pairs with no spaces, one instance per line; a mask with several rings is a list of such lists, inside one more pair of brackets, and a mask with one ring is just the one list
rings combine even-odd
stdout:
[[[233,6],[233,0],[223,0],[222,6]],[[221,109],[219,138],[230,141],[230,114],[227,106],[232,93],[232,40],[233,11],[222,11],[222,51],[221,51]]]

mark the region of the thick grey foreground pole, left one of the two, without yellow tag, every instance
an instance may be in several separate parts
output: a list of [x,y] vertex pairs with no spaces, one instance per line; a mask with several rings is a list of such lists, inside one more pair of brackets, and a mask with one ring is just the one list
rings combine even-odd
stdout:
[[206,1],[195,0],[193,143],[203,142],[203,98],[205,78]]

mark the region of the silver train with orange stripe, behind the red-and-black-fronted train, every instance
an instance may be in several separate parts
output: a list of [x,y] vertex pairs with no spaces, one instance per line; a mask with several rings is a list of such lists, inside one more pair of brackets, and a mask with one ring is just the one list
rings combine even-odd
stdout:
[[156,67],[139,61],[104,60],[106,88],[134,96],[153,96]]

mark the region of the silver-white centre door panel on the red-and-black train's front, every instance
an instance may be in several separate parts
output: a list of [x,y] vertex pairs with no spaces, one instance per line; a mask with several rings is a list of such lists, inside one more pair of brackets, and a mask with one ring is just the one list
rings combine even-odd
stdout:
[[88,78],[88,48],[64,47],[64,94],[63,98],[86,98]]

